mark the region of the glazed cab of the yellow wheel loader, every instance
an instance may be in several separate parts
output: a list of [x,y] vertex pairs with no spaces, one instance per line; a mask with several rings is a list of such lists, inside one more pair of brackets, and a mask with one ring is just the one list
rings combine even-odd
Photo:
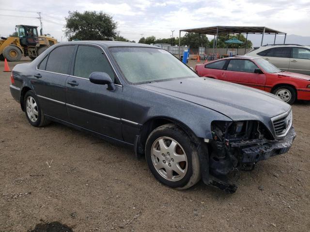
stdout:
[[37,43],[39,43],[37,27],[27,25],[17,25],[16,31],[18,34],[20,44],[35,46]]

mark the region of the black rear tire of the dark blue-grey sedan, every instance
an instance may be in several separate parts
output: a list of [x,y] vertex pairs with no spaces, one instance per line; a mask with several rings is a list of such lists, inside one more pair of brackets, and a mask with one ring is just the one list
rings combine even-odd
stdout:
[[[31,98],[34,100],[34,102],[36,103],[36,112],[37,112],[37,118],[35,121],[31,120],[31,117],[28,115],[29,112],[28,112],[28,107],[27,107],[27,101],[28,99],[31,100]],[[26,117],[29,121],[29,123],[34,126],[34,127],[44,127],[46,126],[47,124],[50,123],[50,120],[48,120],[46,118],[46,116],[44,116],[43,114],[43,111],[39,105],[39,102],[38,102],[38,98],[37,96],[34,94],[34,92],[32,90],[29,90],[25,96],[24,96],[24,109],[25,109],[25,114],[26,114]],[[34,112],[34,111],[32,111]]]

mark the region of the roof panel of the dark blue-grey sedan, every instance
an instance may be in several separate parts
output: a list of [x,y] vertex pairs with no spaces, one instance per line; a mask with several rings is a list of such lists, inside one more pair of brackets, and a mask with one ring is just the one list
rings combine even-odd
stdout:
[[62,44],[72,44],[72,43],[91,43],[96,44],[104,48],[109,47],[150,47],[150,48],[157,48],[157,46],[144,44],[144,43],[132,43],[132,42],[121,42],[121,41],[97,41],[97,40],[88,40],[88,41],[71,41],[71,42],[62,42]]

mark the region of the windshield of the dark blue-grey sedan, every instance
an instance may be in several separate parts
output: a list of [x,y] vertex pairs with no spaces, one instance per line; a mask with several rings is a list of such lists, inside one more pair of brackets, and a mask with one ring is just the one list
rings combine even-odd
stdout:
[[197,77],[196,73],[163,49],[112,47],[110,51],[124,77],[132,84]]

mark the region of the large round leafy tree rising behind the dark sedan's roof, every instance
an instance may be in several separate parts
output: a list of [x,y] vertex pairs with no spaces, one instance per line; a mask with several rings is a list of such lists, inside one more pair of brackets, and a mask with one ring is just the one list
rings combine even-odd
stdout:
[[113,40],[118,35],[117,23],[102,11],[70,12],[65,17],[65,35],[69,40]]

